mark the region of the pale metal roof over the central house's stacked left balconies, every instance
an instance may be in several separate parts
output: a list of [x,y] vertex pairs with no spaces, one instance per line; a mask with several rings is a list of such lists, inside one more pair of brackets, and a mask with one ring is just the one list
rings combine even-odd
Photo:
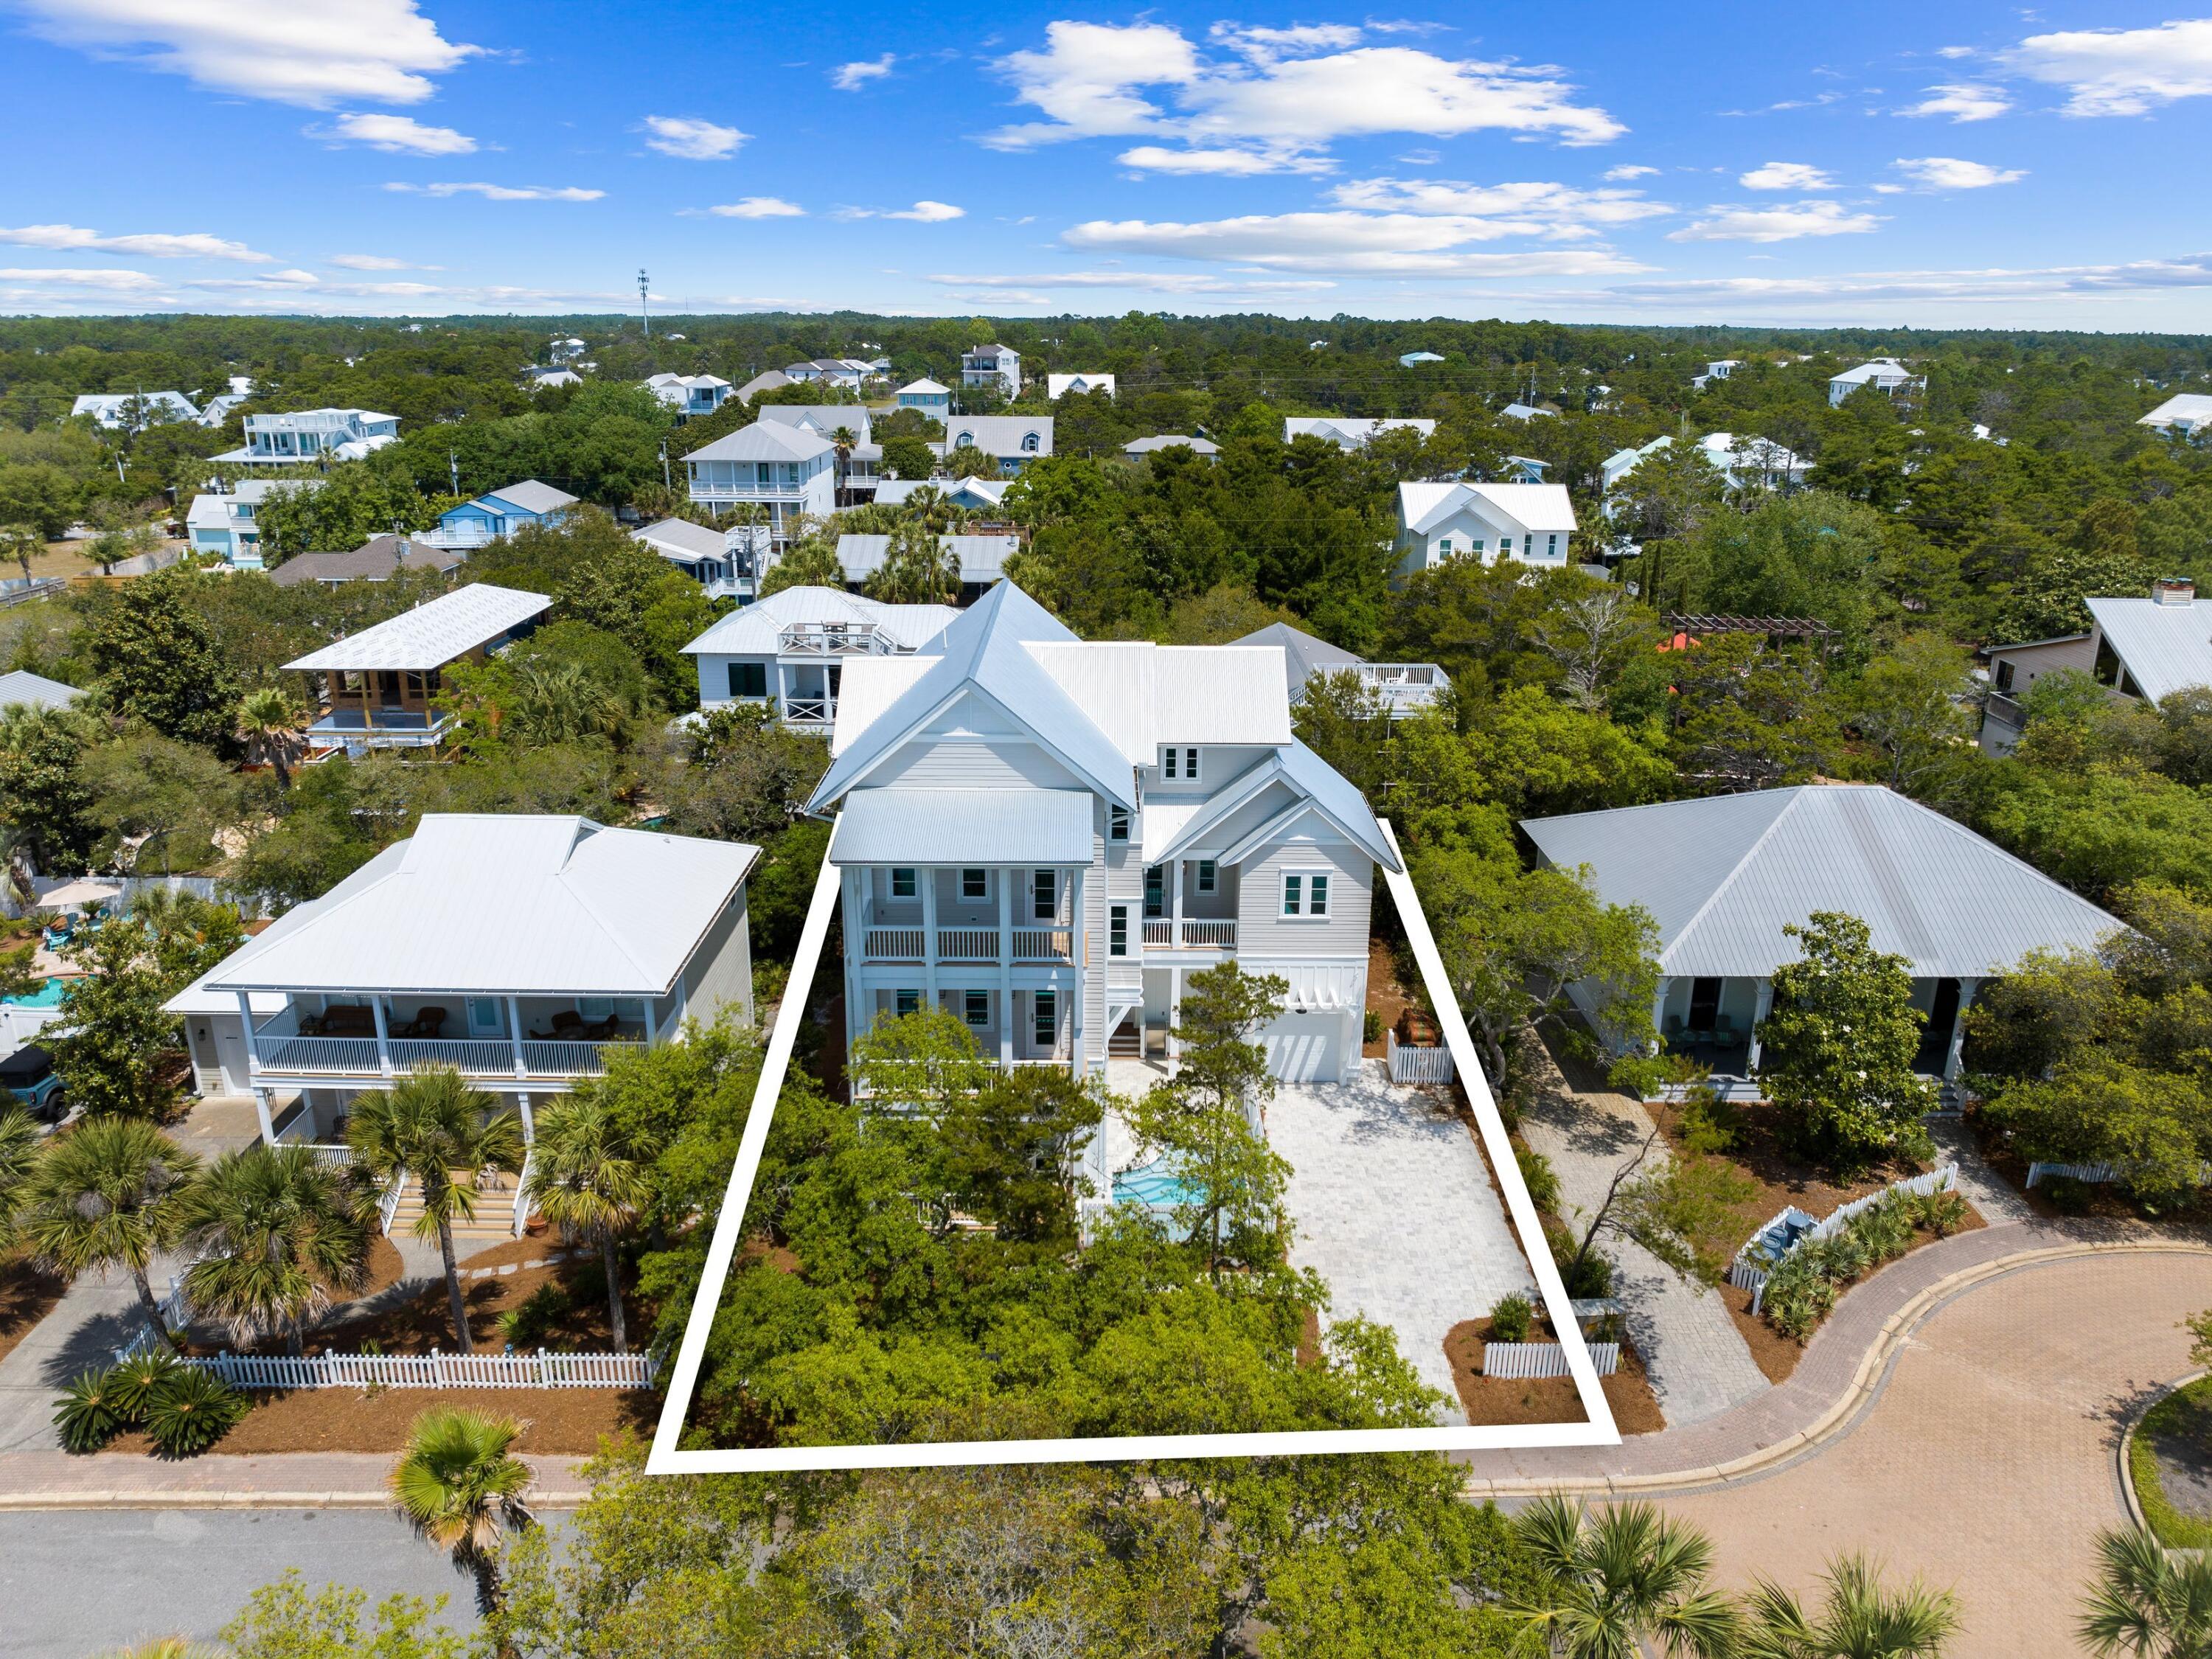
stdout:
[[834,865],[1088,865],[1084,790],[854,790]]

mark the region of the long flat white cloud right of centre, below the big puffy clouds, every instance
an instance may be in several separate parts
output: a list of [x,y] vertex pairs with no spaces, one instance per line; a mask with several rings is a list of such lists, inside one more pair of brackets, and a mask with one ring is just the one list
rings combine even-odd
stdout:
[[1199,223],[1091,219],[1071,226],[1062,241],[1071,248],[1363,276],[1590,276],[1646,270],[1608,248],[1462,252],[1471,241],[1520,232],[1522,226],[1467,215],[1279,212]]

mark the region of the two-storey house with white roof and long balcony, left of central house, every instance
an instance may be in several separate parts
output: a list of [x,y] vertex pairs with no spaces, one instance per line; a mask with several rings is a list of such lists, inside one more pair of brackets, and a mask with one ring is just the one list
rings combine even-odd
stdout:
[[[679,1042],[688,1018],[752,1024],[759,856],[591,818],[427,812],[166,1006],[199,1091],[250,1093],[265,1141],[338,1146],[356,1095],[458,1066],[529,1144],[533,1102],[599,1077],[608,1053]],[[520,1234],[526,1192],[513,1210]]]

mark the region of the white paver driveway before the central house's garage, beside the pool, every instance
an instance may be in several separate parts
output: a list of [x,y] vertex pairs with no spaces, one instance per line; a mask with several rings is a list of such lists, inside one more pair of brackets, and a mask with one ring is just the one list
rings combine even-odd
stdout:
[[1394,1088],[1369,1060],[1340,1084],[1283,1084],[1267,1144],[1292,1168],[1292,1265],[1329,1285],[1334,1318],[1365,1314],[1396,1329],[1422,1383],[1458,1400],[1444,1332],[1500,1296],[1535,1298],[1469,1128],[1436,1097]]

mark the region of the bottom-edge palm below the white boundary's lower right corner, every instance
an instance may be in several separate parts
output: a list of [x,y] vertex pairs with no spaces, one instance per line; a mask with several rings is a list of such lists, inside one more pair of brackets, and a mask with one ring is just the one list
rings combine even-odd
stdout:
[[1559,1495],[1531,1504],[1515,1531],[1555,1584],[1517,1613],[1544,1632],[1555,1659],[1635,1659],[1646,1641],[1666,1655],[1734,1652],[1734,1604],[1705,1588],[1712,1544],[1652,1504],[1595,1517]]

